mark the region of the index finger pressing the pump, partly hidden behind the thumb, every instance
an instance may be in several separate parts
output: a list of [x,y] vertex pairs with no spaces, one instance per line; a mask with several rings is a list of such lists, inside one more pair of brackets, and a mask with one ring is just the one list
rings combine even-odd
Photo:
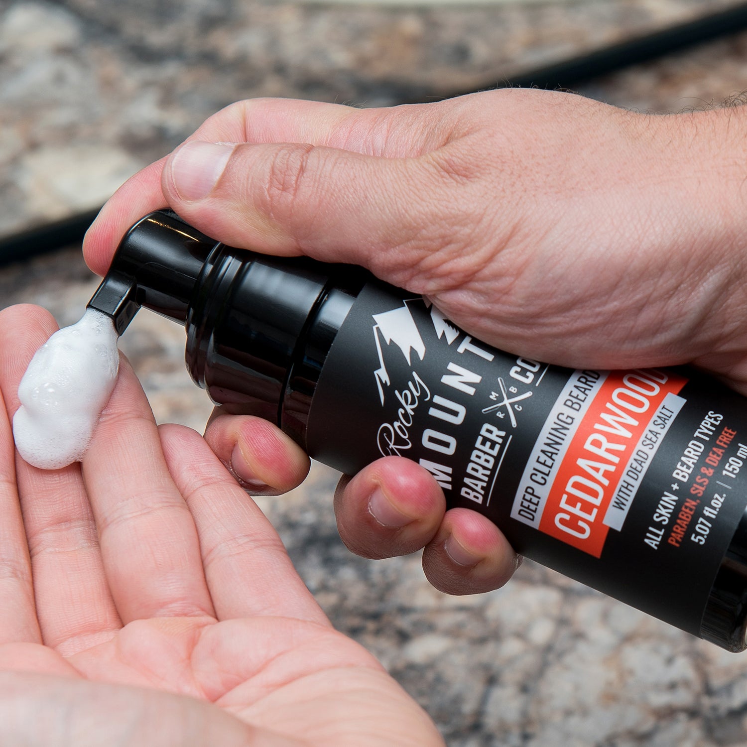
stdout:
[[[187,142],[309,143],[385,158],[409,158],[454,137],[462,123],[459,109],[454,102],[362,110],[294,99],[249,99],[214,114]],[[83,247],[94,272],[105,273],[129,226],[167,204],[161,190],[165,161],[161,159],[125,182],[94,221]],[[179,210],[179,204],[171,206]],[[199,222],[197,227],[213,235],[210,223]]]

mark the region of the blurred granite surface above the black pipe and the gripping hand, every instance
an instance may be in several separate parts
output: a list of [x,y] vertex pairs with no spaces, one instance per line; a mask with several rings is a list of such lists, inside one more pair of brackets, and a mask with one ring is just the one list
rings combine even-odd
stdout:
[[[371,106],[438,98],[731,5],[0,0],[0,236],[100,204],[238,99]],[[670,80],[678,69],[654,72],[656,81],[644,75],[630,103],[681,108],[684,97],[738,86],[738,66],[706,53],[707,75],[702,62],[684,90]]]

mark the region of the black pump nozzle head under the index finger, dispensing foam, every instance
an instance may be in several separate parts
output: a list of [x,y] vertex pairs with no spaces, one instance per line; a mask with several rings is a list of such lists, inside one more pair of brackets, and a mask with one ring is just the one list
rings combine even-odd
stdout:
[[120,242],[87,306],[111,317],[118,335],[140,306],[184,324],[199,273],[216,246],[171,211],[146,215]]

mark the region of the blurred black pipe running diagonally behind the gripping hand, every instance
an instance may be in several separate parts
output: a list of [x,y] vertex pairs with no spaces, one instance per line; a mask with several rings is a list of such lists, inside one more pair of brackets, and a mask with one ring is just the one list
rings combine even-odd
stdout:
[[[490,81],[478,90],[495,88],[544,88],[557,90],[572,88],[580,83],[609,75],[611,72],[654,60],[663,55],[678,52],[690,46],[712,41],[719,37],[737,34],[747,28],[747,3],[740,3],[728,10],[710,13],[692,21],[654,31],[636,39],[626,40],[612,46],[589,52],[537,70],[514,75],[496,84]],[[430,93],[412,99],[400,100],[399,104],[413,104],[462,96],[468,91],[452,93]],[[53,249],[60,249],[83,240],[88,226],[100,208],[72,217],[38,226],[28,231],[0,239],[0,266],[14,261],[23,261]]]

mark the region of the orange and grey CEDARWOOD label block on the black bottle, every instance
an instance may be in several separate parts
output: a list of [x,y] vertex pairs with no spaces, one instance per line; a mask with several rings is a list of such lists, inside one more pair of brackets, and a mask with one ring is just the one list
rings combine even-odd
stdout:
[[575,371],[545,421],[512,517],[595,557],[619,530],[687,379],[672,371]]

